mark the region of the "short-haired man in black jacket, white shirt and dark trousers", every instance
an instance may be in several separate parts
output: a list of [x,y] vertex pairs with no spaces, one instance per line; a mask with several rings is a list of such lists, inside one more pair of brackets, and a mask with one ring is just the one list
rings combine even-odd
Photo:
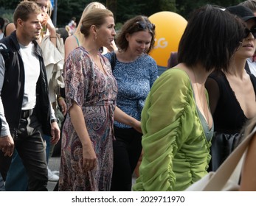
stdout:
[[49,103],[46,71],[36,40],[41,34],[41,8],[21,1],[13,20],[16,31],[0,40],[0,172],[5,180],[13,149],[29,177],[29,191],[47,191],[45,143],[41,134],[60,138]]

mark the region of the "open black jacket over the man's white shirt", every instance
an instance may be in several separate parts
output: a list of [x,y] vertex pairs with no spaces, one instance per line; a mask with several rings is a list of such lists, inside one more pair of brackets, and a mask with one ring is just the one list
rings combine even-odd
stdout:
[[[38,121],[41,122],[44,134],[50,135],[50,102],[44,60],[38,43],[36,41],[33,41],[33,43],[35,44],[34,52],[40,62],[40,76],[36,85],[36,116],[38,116]],[[12,135],[15,135],[18,129],[24,96],[24,64],[19,49],[20,46],[15,32],[0,40],[0,52],[5,63],[1,100],[4,105],[4,116]]]

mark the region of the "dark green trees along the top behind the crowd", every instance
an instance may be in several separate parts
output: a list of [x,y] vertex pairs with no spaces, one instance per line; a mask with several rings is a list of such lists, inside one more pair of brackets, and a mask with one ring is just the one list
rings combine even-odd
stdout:
[[[0,16],[12,21],[13,10],[19,1],[21,0],[0,0]],[[114,13],[118,26],[135,15],[142,14],[150,16],[165,10],[179,13],[179,15],[187,18],[192,10],[205,4],[229,7],[239,4],[242,1],[243,0],[99,0],[99,2],[105,4],[106,7]],[[78,23],[80,15],[90,2],[89,0],[58,0],[57,26],[65,26],[73,16],[77,18]]]

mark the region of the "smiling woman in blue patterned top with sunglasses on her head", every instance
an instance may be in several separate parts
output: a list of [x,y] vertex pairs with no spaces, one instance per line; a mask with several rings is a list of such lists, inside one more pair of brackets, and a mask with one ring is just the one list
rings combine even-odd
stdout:
[[[138,15],[126,21],[117,35],[118,51],[105,54],[117,79],[117,106],[140,121],[145,99],[157,78],[156,61],[149,56],[155,25]],[[131,191],[132,174],[142,152],[142,133],[114,122],[114,171],[111,191]]]

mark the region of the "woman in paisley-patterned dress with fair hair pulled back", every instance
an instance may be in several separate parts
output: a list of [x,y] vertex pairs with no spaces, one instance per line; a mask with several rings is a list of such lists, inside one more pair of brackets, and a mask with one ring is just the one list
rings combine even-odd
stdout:
[[140,122],[116,106],[117,82],[102,46],[114,39],[110,10],[83,18],[85,40],[66,59],[68,113],[63,124],[59,191],[109,191],[113,168],[114,120],[140,130]]

